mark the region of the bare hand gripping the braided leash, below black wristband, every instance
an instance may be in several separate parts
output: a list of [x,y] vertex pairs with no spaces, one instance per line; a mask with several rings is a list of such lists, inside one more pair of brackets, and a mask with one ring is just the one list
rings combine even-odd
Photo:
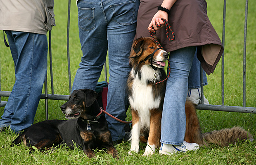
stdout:
[[[160,25],[160,24],[164,25],[164,22],[161,20],[161,18],[164,18],[164,19],[166,19],[166,21],[168,21],[168,14],[165,11],[159,10],[152,18],[152,21],[149,23],[149,27],[147,27],[147,29],[150,32],[154,32],[154,30],[159,30],[161,27],[163,27],[163,26],[156,27],[156,23],[158,25]],[[152,28],[152,26],[153,26],[153,28]]]

